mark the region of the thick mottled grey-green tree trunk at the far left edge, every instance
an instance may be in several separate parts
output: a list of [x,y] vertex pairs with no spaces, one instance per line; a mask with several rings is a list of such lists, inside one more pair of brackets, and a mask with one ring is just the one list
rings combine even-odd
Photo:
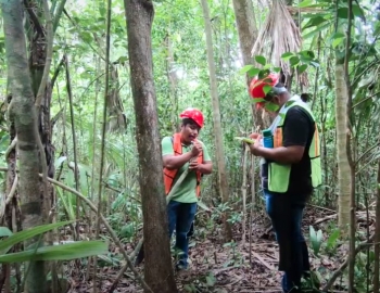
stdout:
[[[43,224],[46,213],[43,198],[40,193],[39,166],[37,148],[38,133],[35,110],[35,95],[27,62],[26,42],[23,28],[23,8],[21,1],[1,1],[5,34],[5,52],[12,101],[9,107],[10,119],[14,122],[17,136],[17,154],[20,160],[20,198],[23,214],[23,228]],[[25,243],[29,246],[37,243],[33,239]],[[30,262],[25,292],[47,292],[45,263]]]

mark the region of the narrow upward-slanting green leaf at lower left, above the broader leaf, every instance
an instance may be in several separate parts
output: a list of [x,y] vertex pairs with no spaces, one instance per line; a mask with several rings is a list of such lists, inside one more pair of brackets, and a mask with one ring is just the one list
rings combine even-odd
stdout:
[[0,254],[5,254],[14,244],[23,242],[27,239],[45,233],[52,229],[68,225],[71,222],[73,222],[73,220],[41,225],[30,229],[26,229],[24,231],[16,232],[13,235],[0,241]]

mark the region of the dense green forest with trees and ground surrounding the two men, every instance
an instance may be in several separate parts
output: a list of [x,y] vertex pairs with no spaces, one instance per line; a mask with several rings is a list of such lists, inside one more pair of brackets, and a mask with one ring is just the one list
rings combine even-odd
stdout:
[[[275,123],[251,97],[269,73],[308,98],[320,156],[308,277],[289,292],[380,292],[379,1],[0,3],[0,292],[286,292],[241,141]],[[166,192],[163,139],[192,109],[212,171],[179,270],[168,213],[191,169]]]

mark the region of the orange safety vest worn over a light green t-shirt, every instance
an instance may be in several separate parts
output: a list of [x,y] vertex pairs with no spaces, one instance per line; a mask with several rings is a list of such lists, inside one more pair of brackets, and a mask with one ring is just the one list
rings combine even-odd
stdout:
[[[182,143],[180,141],[180,133],[175,133],[173,136],[173,150],[174,155],[181,155],[182,154]],[[199,164],[203,163],[203,152],[201,152],[197,158]],[[165,194],[167,195],[170,192],[170,189],[173,187],[174,178],[177,175],[178,169],[169,170],[167,168],[164,168],[164,184],[165,184]],[[197,198],[201,195],[201,178],[202,174],[200,171],[197,171],[197,190],[195,194]]]

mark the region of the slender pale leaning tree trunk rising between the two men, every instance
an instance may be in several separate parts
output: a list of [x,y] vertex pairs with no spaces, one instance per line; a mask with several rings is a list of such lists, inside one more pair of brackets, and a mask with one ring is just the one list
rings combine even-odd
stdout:
[[[204,25],[206,33],[206,44],[207,44],[207,61],[210,71],[210,92],[212,97],[213,105],[213,122],[214,122],[214,133],[215,133],[215,145],[216,145],[216,161],[218,167],[218,179],[219,179],[219,191],[221,194],[221,201],[228,203],[229,191],[228,191],[228,177],[226,173],[225,151],[224,141],[221,136],[220,125],[220,111],[219,111],[219,98],[217,93],[216,74],[215,74],[215,62],[213,51],[213,35],[211,29],[210,11],[207,0],[202,0]],[[224,214],[223,221],[225,225],[225,241],[230,242],[232,239],[232,231],[229,222],[227,221],[228,215]]]

